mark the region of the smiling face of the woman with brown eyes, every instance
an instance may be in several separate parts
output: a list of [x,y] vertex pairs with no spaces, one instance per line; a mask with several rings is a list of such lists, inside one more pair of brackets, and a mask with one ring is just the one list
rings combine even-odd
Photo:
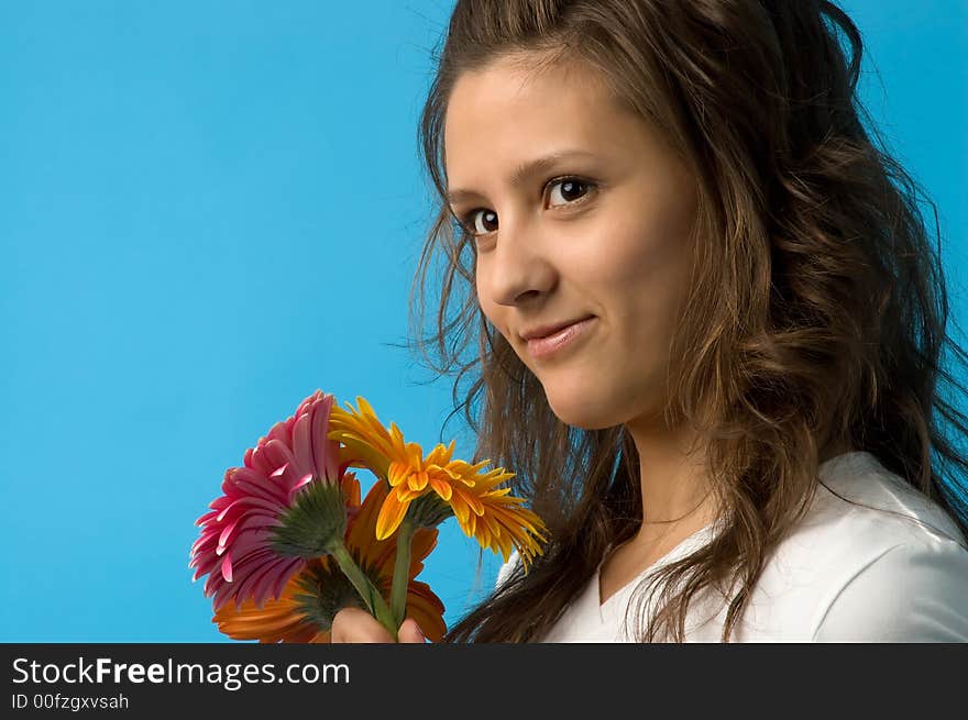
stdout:
[[586,66],[509,58],[460,76],[444,154],[481,308],[554,413],[585,429],[657,418],[691,262],[685,166]]

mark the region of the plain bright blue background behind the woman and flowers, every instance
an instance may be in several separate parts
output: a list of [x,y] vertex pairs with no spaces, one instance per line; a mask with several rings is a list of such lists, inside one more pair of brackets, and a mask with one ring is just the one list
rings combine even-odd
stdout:
[[[968,2],[844,5],[866,102],[938,204],[960,318]],[[442,428],[449,383],[397,347],[451,7],[0,2],[0,641],[226,640],[194,521],[317,388],[470,453]],[[420,578],[449,623],[493,583],[477,556],[444,523]]]

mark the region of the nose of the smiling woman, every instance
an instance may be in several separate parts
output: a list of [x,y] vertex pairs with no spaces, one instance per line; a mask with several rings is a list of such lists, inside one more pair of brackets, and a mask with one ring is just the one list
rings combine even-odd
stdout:
[[534,302],[553,289],[558,274],[540,230],[502,218],[497,242],[477,257],[479,292],[503,306]]

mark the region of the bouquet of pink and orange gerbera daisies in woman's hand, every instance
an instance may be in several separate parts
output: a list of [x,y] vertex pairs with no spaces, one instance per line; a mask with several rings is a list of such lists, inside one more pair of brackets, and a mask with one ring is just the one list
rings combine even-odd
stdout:
[[[356,405],[306,398],[226,472],[223,495],[196,521],[193,579],[208,575],[212,622],[230,638],[329,642],[333,616],[355,606],[394,638],[409,616],[440,640],[443,603],[415,578],[451,517],[505,562],[516,549],[527,568],[541,553],[547,528],[502,487],[513,473],[452,459],[454,442],[425,456]],[[362,502],[351,467],[377,478]]]

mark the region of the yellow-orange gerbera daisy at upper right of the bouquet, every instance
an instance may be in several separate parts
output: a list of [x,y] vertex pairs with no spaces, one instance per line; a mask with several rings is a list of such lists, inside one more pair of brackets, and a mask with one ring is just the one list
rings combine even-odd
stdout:
[[[524,500],[499,487],[514,477],[503,467],[482,472],[491,461],[475,465],[452,459],[454,442],[438,444],[425,457],[417,443],[407,443],[395,423],[389,431],[376,418],[370,403],[356,398],[360,409],[333,405],[329,419],[330,440],[343,444],[341,461],[367,467],[387,480],[391,491],[376,520],[376,536],[391,536],[415,500],[420,500],[418,524],[441,522],[453,514],[461,530],[482,547],[499,551],[505,562],[517,549],[525,567],[540,554],[547,528],[541,519],[521,507]],[[419,521],[430,514],[432,522]]]

